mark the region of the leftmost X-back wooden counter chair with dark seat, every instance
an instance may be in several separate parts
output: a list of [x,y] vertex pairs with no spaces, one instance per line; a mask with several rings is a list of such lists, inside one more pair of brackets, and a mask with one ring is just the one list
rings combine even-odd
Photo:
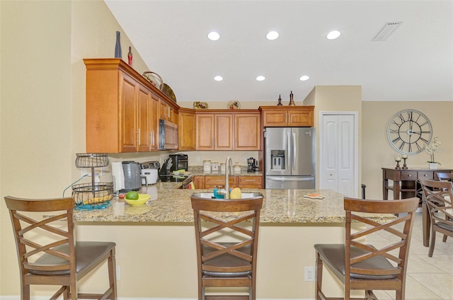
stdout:
[[[59,296],[64,300],[117,299],[116,245],[75,240],[73,198],[38,200],[7,196],[5,201],[16,241],[22,300],[30,300],[30,286],[35,284],[60,286],[52,300]],[[78,293],[77,282],[105,261],[108,289],[103,294]]]

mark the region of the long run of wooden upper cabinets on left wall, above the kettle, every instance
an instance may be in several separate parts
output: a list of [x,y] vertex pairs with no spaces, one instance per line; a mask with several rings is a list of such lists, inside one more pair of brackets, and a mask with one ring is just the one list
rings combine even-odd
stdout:
[[86,152],[159,150],[159,118],[179,107],[122,59],[84,59]]

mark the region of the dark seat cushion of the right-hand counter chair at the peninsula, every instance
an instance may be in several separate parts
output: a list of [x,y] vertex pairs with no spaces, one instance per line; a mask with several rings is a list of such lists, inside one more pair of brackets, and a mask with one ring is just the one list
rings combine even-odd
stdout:
[[[345,277],[345,245],[344,244],[316,244],[314,246],[323,262],[336,274],[340,279]],[[351,257],[369,253],[354,246],[351,246]],[[357,262],[354,267],[361,269],[390,269],[394,266],[383,256],[374,256],[362,262]],[[351,278],[355,279],[395,279],[396,275],[362,275],[351,273]]]

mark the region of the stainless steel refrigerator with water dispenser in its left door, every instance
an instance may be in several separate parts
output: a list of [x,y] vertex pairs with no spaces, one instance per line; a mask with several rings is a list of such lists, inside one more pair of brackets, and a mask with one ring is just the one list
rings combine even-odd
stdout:
[[315,188],[315,129],[265,129],[265,188]]

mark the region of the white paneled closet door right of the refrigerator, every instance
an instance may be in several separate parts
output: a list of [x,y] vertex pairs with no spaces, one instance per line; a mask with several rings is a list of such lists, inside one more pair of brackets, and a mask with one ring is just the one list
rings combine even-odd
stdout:
[[354,114],[322,114],[319,188],[357,197],[357,126]]

